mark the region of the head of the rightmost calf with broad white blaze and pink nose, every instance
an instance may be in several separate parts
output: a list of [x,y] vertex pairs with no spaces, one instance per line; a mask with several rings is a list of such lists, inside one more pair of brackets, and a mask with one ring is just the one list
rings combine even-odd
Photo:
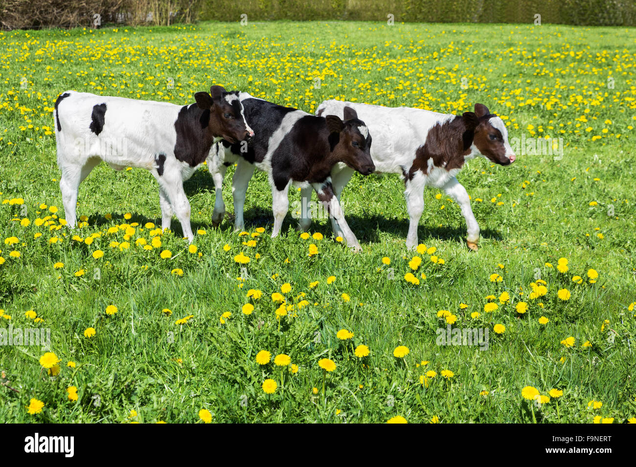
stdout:
[[473,144],[481,154],[495,164],[509,165],[515,153],[508,142],[508,130],[501,118],[488,111],[483,104],[475,104],[479,125],[474,130]]

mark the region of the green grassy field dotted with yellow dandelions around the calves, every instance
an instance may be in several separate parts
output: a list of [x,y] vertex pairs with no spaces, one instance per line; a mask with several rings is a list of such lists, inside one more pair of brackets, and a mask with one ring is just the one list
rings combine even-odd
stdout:
[[[0,347],[0,421],[636,421],[635,46],[634,29],[553,25],[0,32],[0,326],[51,333],[49,349]],[[176,219],[174,233],[150,225],[158,189],[144,170],[98,166],[79,189],[81,227],[62,225],[61,91],[186,104],[213,83],[309,112],[325,98],[453,113],[481,102],[510,137],[562,137],[565,151],[468,163],[458,178],[477,253],[459,207],[434,189],[425,246],[407,252],[397,175],[356,174],[345,189],[360,254],[325,220],[304,239],[289,215],[272,240],[263,173],[247,192],[247,234],[231,217],[213,228],[205,166],[186,182],[196,251]],[[438,345],[447,321],[487,328],[488,349]]]

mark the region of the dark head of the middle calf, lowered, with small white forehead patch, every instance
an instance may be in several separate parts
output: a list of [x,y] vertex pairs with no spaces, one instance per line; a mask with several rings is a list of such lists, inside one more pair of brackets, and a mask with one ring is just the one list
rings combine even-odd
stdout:
[[329,130],[331,154],[338,162],[347,164],[363,175],[375,172],[371,159],[371,135],[364,122],[351,107],[345,107],[344,120],[338,116],[325,117]]

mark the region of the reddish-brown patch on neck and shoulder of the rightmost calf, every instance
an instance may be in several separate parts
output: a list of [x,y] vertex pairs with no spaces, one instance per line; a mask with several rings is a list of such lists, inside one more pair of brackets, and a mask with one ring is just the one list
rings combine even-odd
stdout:
[[474,112],[464,112],[462,116],[433,126],[426,136],[424,146],[415,151],[415,161],[408,174],[404,171],[404,178],[412,180],[418,170],[427,173],[429,159],[432,159],[434,166],[446,170],[462,168],[464,157],[470,154],[474,129],[479,123]]

